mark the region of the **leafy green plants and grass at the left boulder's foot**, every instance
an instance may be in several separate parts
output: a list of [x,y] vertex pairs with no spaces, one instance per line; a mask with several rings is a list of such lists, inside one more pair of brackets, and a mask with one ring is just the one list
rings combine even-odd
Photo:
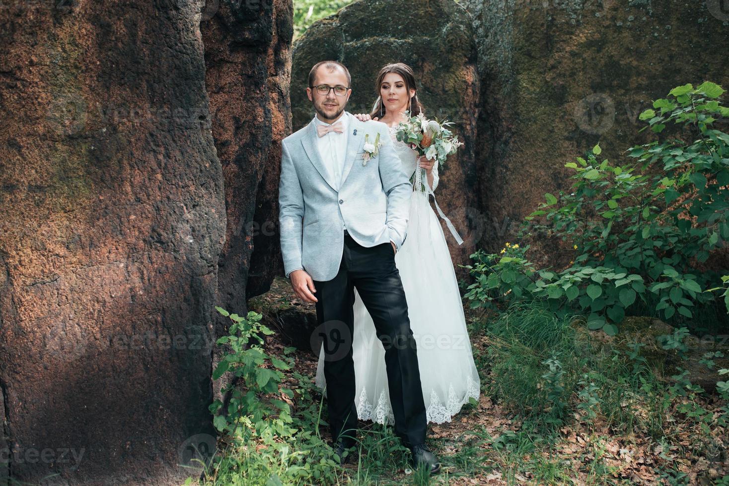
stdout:
[[[232,324],[228,335],[217,340],[230,351],[222,357],[213,378],[233,373],[235,386],[227,386],[230,402],[214,401],[209,410],[214,426],[227,444],[225,454],[206,476],[212,484],[333,483],[338,480],[335,452],[319,437],[321,403],[312,399],[312,383],[292,373],[300,387],[283,385],[283,371],[292,359],[268,354],[263,336],[273,331],[261,324],[262,315],[249,312],[243,318],[216,307]],[[292,351],[286,348],[284,354]],[[295,397],[302,402],[292,412]]]

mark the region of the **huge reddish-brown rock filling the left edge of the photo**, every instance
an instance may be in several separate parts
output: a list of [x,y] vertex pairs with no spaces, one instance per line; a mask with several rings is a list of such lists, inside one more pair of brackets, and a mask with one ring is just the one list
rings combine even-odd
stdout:
[[0,9],[0,478],[174,485],[215,446],[226,218],[200,9]]

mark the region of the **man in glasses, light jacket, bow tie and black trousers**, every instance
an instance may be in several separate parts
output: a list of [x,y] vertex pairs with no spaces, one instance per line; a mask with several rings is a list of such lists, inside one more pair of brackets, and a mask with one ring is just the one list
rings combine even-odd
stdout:
[[359,122],[344,108],[347,68],[311,68],[306,94],[316,116],[281,143],[278,186],[284,270],[302,300],[316,303],[324,329],[324,377],[337,453],[354,445],[357,411],[352,361],[354,289],[385,348],[395,433],[431,473],[426,412],[408,303],[394,255],[405,242],[412,188],[386,124]]

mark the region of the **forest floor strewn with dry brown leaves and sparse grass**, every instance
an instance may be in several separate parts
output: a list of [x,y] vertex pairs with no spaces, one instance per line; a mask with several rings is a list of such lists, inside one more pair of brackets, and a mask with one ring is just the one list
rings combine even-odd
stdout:
[[[269,292],[249,301],[249,308],[262,313],[269,322],[275,321],[282,308],[308,313],[309,319],[314,312],[313,304],[296,298],[286,279],[276,279]],[[418,476],[418,471],[410,469],[410,454],[405,448],[396,445],[390,454],[393,448],[382,446],[383,442],[394,443],[388,442],[394,439],[391,432],[371,422],[360,422],[359,461],[343,467],[341,484],[729,485],[727,430],[725,426],[706,425],[720,415],[720,407],[726,407],[726,402],[710,394],[674,399],[661,413],[659,434],[645,434],[639,426],[616,430],[609,421],[601,423],[601,415],[588,421],[578,413],[571,413],[561,426],[545,434],[504,400],[492,399],[489,390],[498,390],[502,385],[486,357],[492,343],[480,324],[488,316],[468,306],[466,312],[481,396],[476,406],[465,405],[453,421],[429,424],[428,443],[440,458],[440,474],[429,479],[423,474]],[[283,354],[287,346],[290,343],[277,332],[268,338],[266,347],[271,354]],[[295,362],[293,369],[313,383],[317,356],[311,348],[289,356]],[[293,378],[290,381],[291,388],[298,386]],[[316,392],[313,397],[321,399]],[[640,407],[647,410],[654,405],[644,402]],[[325,409],[324,404],[324,415]],[[706,413],[697,415],[692,410]],[[329,439],[325,429],[322,427],[321,438]],[[382,441],[381,437],[388,440]]]

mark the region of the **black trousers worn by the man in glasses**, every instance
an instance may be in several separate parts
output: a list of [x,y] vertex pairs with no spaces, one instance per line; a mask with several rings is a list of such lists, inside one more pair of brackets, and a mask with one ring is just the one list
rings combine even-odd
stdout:
[[352,360],[354,288],[372,316],[385,349],[394,431],[406,447],[425,442],[426,415],[418,355],[410,329],[408,302],[387,242],[362,247],[346,232],[339,271],[332,280],[315,280],[316,319],[324,346],[324,378],[332,438],[351,444],[357,431]]

